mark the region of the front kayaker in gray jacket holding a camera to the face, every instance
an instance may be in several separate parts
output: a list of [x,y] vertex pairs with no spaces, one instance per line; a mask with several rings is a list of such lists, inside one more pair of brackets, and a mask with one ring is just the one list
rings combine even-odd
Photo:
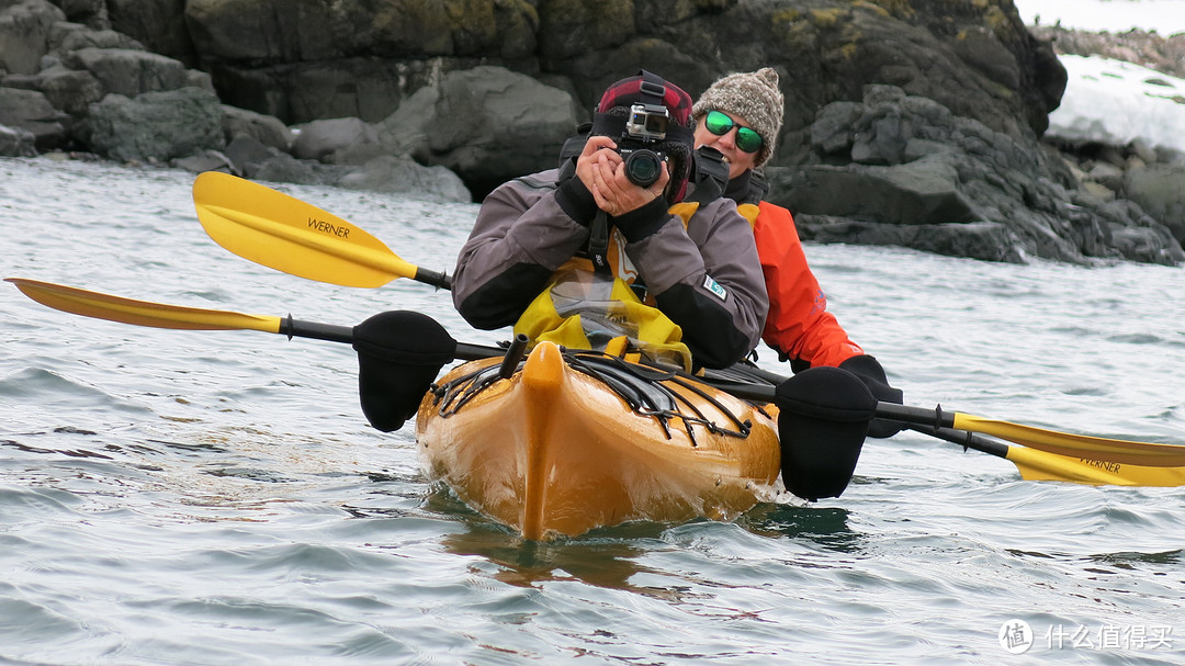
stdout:
[[768,309],[761,263],[735,201],[680,204],[691,105],[654,73],[623,78],[578,155],[494,190],[457,258],[461,315],[569,347],[628,341],[687,367],[744,358]]

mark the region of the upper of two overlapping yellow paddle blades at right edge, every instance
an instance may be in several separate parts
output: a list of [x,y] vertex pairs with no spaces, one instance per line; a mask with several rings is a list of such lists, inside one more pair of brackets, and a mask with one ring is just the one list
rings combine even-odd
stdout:
[[1185,466],[1185,447],[1179,444],[1074,435],[961,412],[956,412],[954,416],[954,428],[992,435],[1017,444],[1072,459],[1104,460],[1145,467]]

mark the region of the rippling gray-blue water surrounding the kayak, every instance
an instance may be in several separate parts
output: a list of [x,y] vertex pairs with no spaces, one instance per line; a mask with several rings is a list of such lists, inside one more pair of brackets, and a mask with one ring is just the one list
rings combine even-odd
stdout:
[[[2,276],[506,337],[409,280],[230,255],[192,179],[0,160]],[[476,212],[277,187],[437,270]],[[1183,269],[808,255],[907,404],[1185,442]],[[903,433],[870,441],[840,499],[523,543],[433,486],[406,428],[365,424],[347,345],[84,319],[11,284],[0,345],[0,664],[1185,664],[1178,488],[1021,481]],[[1020,657],[998,641],[1012,619],[1036,635]]]

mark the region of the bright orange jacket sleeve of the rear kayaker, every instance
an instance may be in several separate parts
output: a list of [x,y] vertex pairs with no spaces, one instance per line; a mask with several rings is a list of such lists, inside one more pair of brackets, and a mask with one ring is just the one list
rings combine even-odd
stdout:
[[790,211],[761,201],[752,233],[769,293],[762,339],[790,360],[838,366],[864,350],[827,312],[827,296],[807,265]]

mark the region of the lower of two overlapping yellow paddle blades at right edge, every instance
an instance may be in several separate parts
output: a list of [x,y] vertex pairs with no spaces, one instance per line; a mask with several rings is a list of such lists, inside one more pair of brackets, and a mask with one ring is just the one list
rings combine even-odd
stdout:
[[1145,467],[1068,457],[1025,447],[1008,447],[1006,456],[1029,481],[1070,481],[1093,486],[1185,486],[1185,467]]

